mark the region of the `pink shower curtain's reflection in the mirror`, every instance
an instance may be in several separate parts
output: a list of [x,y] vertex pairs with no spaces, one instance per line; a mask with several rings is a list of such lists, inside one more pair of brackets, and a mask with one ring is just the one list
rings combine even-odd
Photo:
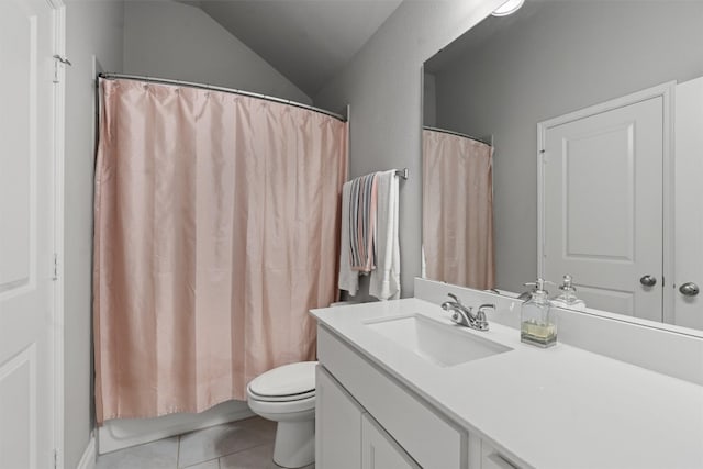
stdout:
[[495,288],[493,148],[423,130],[423,248],[432,280]]

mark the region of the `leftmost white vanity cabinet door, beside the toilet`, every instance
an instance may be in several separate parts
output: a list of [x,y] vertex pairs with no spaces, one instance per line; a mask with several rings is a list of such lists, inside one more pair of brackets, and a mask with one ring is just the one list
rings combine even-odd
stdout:
[[315,379],[315,467],[359,469],[364,409],[322,365]]

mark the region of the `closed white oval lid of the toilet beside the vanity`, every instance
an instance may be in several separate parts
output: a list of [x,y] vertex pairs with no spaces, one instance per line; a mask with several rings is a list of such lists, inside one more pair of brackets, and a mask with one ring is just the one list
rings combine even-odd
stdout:
[[265,398],[300,399],[314,394],[316,361],[283,365],[266,371],[249,382],[253,394]]

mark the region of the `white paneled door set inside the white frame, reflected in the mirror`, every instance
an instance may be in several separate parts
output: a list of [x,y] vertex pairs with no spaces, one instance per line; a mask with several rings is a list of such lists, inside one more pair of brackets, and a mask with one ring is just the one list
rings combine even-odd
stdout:
[[589,308],[662,320],[665,122],[631,96],[539,126],[540,275]]

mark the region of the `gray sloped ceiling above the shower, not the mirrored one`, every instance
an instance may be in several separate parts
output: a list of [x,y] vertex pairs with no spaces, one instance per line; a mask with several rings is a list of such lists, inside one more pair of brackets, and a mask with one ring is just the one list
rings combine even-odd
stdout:
[[402,0],[182,0],[199,7],[309,97]]

